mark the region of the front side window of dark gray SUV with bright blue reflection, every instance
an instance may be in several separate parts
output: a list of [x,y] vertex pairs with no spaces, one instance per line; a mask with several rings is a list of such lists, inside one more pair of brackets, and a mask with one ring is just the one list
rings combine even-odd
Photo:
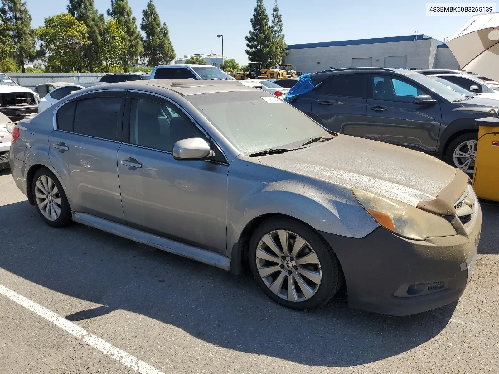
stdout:
[[412,103],[418,95],[427,95],[426,92],[406,81],[389,76],[372,77],[373,98]]

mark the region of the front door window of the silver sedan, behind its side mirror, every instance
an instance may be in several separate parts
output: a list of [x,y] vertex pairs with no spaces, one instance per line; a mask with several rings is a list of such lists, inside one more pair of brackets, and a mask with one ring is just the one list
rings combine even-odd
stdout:
[[130,143],[172,152],[175,142],[204,138],[198,127],[171,104],[132,99],[130,110]]

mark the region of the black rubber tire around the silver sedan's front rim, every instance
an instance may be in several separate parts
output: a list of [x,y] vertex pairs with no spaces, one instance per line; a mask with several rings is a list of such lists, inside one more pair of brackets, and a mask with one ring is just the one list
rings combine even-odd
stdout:
[[[256,247],[266,233],[274,230],[288,230],[300,235],[305,239],[315,251],[322,270],[322,280],[317,292],[308,300],[301,302],[291,302],[280,298],[268,289],[256,267]],[[254,230],[249,246],[249,262],[251,273],[263,292],[280,305],[298,310],[314,309],[326,304],[338,291],[342,282],[341,269],[338,260],[331,247],[311,227],[291,218],[269,218]]]

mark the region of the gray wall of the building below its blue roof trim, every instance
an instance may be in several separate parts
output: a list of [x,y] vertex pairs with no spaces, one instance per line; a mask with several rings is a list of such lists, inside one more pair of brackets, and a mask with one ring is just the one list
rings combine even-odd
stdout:
[[432,40],[289,49],[285,61],[293,64],[296,71],[314,73],[331,67],[352,67],[352,58],[372,57],[373,67],[383,67],[385,57],[407,55],[407,69],[427,69],[431,67]]

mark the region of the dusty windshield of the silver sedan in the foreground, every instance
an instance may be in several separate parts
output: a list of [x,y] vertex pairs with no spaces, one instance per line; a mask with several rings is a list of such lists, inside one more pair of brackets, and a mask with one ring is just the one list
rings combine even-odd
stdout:
[[188,96],[208,120],[238,149],[254,153],[287,148],[330,134],[309,117],[261,91],[217,92]]

